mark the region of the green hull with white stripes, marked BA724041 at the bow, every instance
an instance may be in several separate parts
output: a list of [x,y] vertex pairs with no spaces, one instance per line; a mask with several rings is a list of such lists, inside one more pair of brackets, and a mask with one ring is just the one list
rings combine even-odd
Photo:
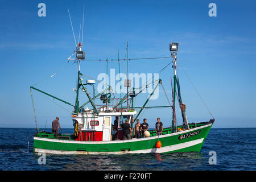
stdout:
[[[34,154],[141,154],[168,152],[200,152],[213,122],[198,124],[190,130],[171,133],[171,129],[164,129],[163,135],[151,137],[113,140],[113,141],[77,141],[74,139],[55,139],[53,135],[39,133],[34,137]],[[68,138],[68,136],[66,136]],[[65,136],[63,136],[65,138]],[[160,141],[162,146],[156,147]]]

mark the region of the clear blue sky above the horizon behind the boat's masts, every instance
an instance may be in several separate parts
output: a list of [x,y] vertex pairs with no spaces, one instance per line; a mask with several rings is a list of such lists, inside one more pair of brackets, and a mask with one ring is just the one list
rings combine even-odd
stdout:
[[[46,4],[46,17],[38,16],[40,2]],[[217,5],[216,17],[208,15],[211,2]],[[117,59],[118,48],[123,59],[126,42],[129,58],[170,56],[169,43],[179,42],[178,75],[189,122],[209,121],[210,114],[180,65],[216,119],[213,127],[256,127],[255,1],[1,1],[0,127],[35,127],[29,88],[53,73],[36,88],[74,104],[77,64],[67,63],[75,49],[68,9],[78,39],[83,4],[86,59]],[[156,73],[168,63],[130,61],[129,72]],[[109,68],[118,72],[117,62]],[[125,69],[122,62],[121,72]],[[81,72],[97,78],[106,63],[82,63]],[[171,67],[160,75],[169,94],[171,75]],[[33,94],[39,127],[51,127],[56,116],[62,127],[72,127],[67,111],[72,107]],[[151,106],[168,105],[162,88],[160,94]],[[135,104],[141,106],[147,95]],[[167,127],[171,115],[170,109],[150,109],[142,119],[154,127],[160,117]]]

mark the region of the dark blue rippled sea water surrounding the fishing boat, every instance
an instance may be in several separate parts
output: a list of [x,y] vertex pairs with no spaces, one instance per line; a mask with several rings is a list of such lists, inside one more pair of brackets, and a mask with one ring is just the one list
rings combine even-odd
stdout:
[[[28,148],[34,133],[35,129],[0,128],[0,170],[256,170],[256,128],[211,129],[201,152],[46,155],[46,164],[39,164],[40,156],[32,154],[32,139]],[[216,151],[217,164],[209,164],[210,151]]]

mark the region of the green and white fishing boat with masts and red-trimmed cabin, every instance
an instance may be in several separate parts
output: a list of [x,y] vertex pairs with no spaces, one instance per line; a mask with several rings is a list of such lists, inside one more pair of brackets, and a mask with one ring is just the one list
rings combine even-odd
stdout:
[[[70,17],[70,16],[69,16]],[[72,22],[71,22],[72,23]],[[72,28],[73,29],[73,28]],[[74,35],[75,39],[75,35]],[[149,94],[143,106],[134,106],[134,98],[138,97],[141,92],[135,93],[134,88],[129,88],[129,79],[126,80],[127,93],[124,97],[115,97],[111,86],[108,86],[103,92],[95,95],[93,87],[93,97],[90,96],[86,86],[95,84],[95,80],[83,81],[81,78],[84,73],[80,70],[81,61],[86,61],[85,52],[82,51],[82,44],[76,45],[76,51],[72,58],[71,55],[68,60],[75,61],[78,65],[77,73],[77,88],[75,104],[72,105],[67,101],[61,100],[58,97],[52,96],[35,86],[30,87],[32,104],[34,107],[34,100],[32,97],[32,90],[46,94],[64,104],[73,107],[71,121],[73,122],[74,132],[72,134],[58,134],[46,131],[39,131],[36,126],[36,133],[34,135],[33,152],[47,153],[47,154],[141,154],[141,153],[168,153],[168,152],[200,152],[201,147],[207,138],[210,128],[214,123],[214,118],[207,122],[188,123],[185,114],[186,106],[181,100],[181,91],[179,78],[177,77],[177,47],[178,43],[170,44],[170,56],[172,59],[172,68],[174,70],[172,86],[172,103],[169,102],[167,107],[171,107],[172,118],[170,118],[171,126],[163,129],[162,135],[157,135],[155,130],[148,130],[148,136],[141,136],[141,138],[123,139],[122,123],[127,119],[131,128],[133,129],[134,121],[142,113],[142,110],[149,108],[148,101],[154,94],[155,89],[159,85],[163,85],[162,80],[158,79],[154,82],[154,90]],[[144,58],[143,58],[144,59]],[[128,61],[128,59],[125,59]],[[131,59],[129,59],[131,60]],[[120,61],[118,57],[118,63]],[[170,63],[168,65],[170,65]],[[171,84],[172,85],[172,84]],[[85,93],[88,97],[88,102],[80,105],[80,92]],[[114,97],[112,97],[114,96]],[[177,96],[177,97],[176,97]],[[166,94],[167,97],[167,94]],[[100,100],[102,106],[97,107],[94,100]],[[168,100],[168,97],[167,97]],[[181,110],[183,118],[182,124],[177,125],[175,103]],[[115,103],[115,104],[114,104]],[[130,104],[131,106],[130,106]],[[90,104],[90,109],[85,107]],[[124,104],[127,104],[124,106]],[[159,106],[164,107],[164,106]],[[35,109],[34,109],[35,111]],[[138,111],[138,112],[137,112]],[[35,112],[34,112],[35,114]],[[113,130],[114,119],[117,119],[118,126]],[[36,122],[36,117],[35,117]]]

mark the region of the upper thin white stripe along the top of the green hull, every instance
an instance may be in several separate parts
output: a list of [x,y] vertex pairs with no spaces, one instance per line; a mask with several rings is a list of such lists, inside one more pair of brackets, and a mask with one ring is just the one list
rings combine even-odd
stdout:
[[60,140],[60,139],[51,139],[51,138],[40,138],[40,137],[34,137],[34,140],[42,140],[42,141],[46,141],[46,142],[57,142],[57,143],[76,143],[76,144],[108,144],[108,143],[129,143],[129,142],[138,142],[138,141],[143,141],[143,140],[151,140],[151,139],[157,139],[157,138],[166,138],[166,137],[171,137],[171,136],[175,136],[175,135],[180,135],[180,134],[184,134],[184,133],[189,133],[195,130],[200,130],[203,129],[204,127],[208,127],[211,126],[211,124],[209,125],[205,125],[205,126],[200,126],[200,127],[196,127],[195,129],[191,129],[191,130],[185,130],[185,131],[180,131],[177,133],[171,133],[171,134],[166,134],[166,135],[160,135],[160,136],[155,136],[155,137],[146,137],[146,138],[139,138],[139,139],[131,139],[131,140],[113,140],[113,141],[99,141],[99,142],[85,142],[85,141],[76,141],[76,140]]

